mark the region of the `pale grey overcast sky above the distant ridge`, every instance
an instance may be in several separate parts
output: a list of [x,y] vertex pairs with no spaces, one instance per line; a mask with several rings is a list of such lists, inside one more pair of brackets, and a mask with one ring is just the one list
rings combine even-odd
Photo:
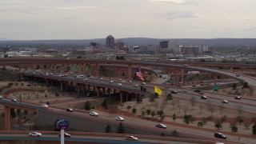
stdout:
[[256,38],[256,0],[1,0],[0,38]]

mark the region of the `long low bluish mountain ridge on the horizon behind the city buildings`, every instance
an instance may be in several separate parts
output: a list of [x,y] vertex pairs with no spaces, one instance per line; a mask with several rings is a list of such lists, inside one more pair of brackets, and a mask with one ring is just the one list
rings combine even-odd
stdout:
[[[3,40],[2,40],[3,39]],[[256,38],[117,38],[115,42],[121,40],[125,45],[159,45],[164,40],[176,41],[178,45],[208,45],[208,46],[242,46],[244,44],[252,47],[256,46]],[[33,40],[33,41],[7,41],[0,38],[0,45],[77,45],[89,46],[90,42],[105,44],[106,38],[94,38],[84,40]]]

